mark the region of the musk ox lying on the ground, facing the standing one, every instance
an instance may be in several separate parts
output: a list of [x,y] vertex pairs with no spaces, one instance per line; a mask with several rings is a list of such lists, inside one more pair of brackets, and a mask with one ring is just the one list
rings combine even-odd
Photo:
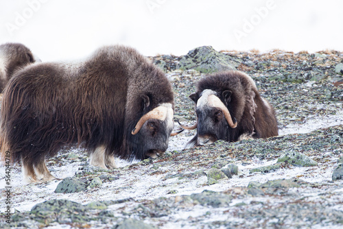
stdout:
[[259,95],[252,78],[241,71],[206,75],[189,96],[196,103],[197,134],[187,147],[217,140],[268,138],[278,135],[274,108]]

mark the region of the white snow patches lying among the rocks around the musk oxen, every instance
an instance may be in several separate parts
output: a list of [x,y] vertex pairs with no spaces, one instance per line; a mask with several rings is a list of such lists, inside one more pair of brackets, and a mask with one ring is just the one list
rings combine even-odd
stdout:
[[[283,128],[283,130],[280,130],[280,135],[307,133],[313,130],[317,130],[318,128],[343,124],[342,114],[343,113],[341,111],[338,113],[338,115],[331,115],[320,119],[309,119],[309,121],[303,123],[302,125],[290,124]],[[179,134],[178,136],[171,137],[169,142],[169,149],[167,151],[182,150],[190,138],[191,137],[185,136],[184,134]],[[73,153],[79,154],[78,149],[73,149],[73,151]],[[329,156],[330,152],[326,152],[326,154],[328,154]],[[331,160],[336,159],[337,158],[331,158]],[[204,189],[211,191],[224,191],[232,186],[247,186],[248,183],[252,180],[254,180],[255,182],[266,182],[268,180],[294,178],[296,176],[301,176],[302,179],[306,182],[322,182],[331,180],[332,170],[328,169],[327,171],[321,171],[320,167],[311,169],[311,171],[309,171],[306,167],[296,167],[294,169],[279,169],[274,173],[255,173],[253,176],[249,176],[249,169],[265,165],[272,165],[275,162],[276,160],[266,161],[255,158],[249,165],[242,165],[241,163],[238,163],[236,165],[239,167],[239,173],[244,174],[245,176],[233,176],[233,178],[227,180],[227,182],[220,182],[219,184],[213,184],[211,186],[200,185],[206,183],[206,176],[182,185],[174,184],[174,182],[176,182],[178,178],[172,178],[163,181],[163,185],[159,185],[164,175],[150,176],[141,172],[132,171],[132,173],[128,175],[121,174],[118,180],[114,180],[110,183],[104,183],[103,189],[101,189],[101,191],[93,192],[91,194],[54,193],[54,190],[56,189],[56,186],[58,185],[60,180],[53,180],[48,184],[43,183],[26,185],[22,181],[21,168],[18,166],[14,166],[12,168],[11,179],[13,190],[12,195],[16,196],[14,199],[16,200],[16,202],[14,202],[12,206],[16,210],[27,211],[31,210],[34,205],[40,202],[59,198],[67,198],[68,200],[73,200],[75,202],[82,202],[82,204],[93,202],[94,200],[113,200],[113,198],[123,199],[127,197],[133,197],[135,200],[154,199],[156,197],[166,195],[165,193],[167,193],[168,190],[171,189],[171,187],[177,189],[178,195],[190,195],[191,193],[200,193]],[[132,163],[137,163],[137,161],[134,161]],[[54,176],[58,178],[67,178],[73,176],[75,172],[78,171],[78,169],[81,167],[80,164],[80,162],[72,162],[62,165],[61,167],[49,167],[49,169]],[[119,165],[119,167],[125,167],[126,165],[129,165],[129,163],[124,160],[117,160],[117,165]],[[115,173],[113,175],[115,176]],[[1,188],[5,186],[4,177],[5,168],[1,166]],[[113,189],[126,190],[121,191],[119,196],[114,196]],[[4,207],[5,206],[1,205],[1,212],[5,210]]]

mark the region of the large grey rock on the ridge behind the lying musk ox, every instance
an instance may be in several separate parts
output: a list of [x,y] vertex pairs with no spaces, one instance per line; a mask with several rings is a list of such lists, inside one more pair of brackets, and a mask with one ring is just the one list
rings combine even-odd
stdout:
[[211,46],[203,46],[193,49],[180,59],[177,69],[196,69],[202,73],[213,73],[216,71],[235,70],[240,60],[215,51]]

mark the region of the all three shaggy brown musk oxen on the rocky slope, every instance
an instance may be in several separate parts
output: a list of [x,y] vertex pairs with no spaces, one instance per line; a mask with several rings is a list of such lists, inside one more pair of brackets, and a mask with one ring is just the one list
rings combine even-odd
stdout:
[[165,73],[135,49],[97,49],[82,62],[40,62],[27,47],[0,46],[1,159],[21,163],[26,182],[56,179],[45,160],[78,145],[89,163],[156,158],[169,136],[197,129],[186,147],[278,135],[274,108],[241,71],[205,75],[194,101],[197,122],[174,129],[174,94]]

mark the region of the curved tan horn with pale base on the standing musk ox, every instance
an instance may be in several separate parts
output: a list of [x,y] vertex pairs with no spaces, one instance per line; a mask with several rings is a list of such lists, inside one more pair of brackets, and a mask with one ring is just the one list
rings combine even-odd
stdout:
[[132,135],[137,134],[139,130],[141,130],[145,121],[149,119],[159,119],[159,120],[165,121],[165,119],[167,118],[168,112],[169,113],[171,112],[171,117],[172,117],[173,110],[171,108],[171,104],[169,104],[169,106],[167,106],[167,104],[163,104],[161,106],[154,108],[153,110],[150,110],[150,112],[147,112],[145,115],[141,117],[141,119],[139,119],[136,126],[132,130],[131,134]]

